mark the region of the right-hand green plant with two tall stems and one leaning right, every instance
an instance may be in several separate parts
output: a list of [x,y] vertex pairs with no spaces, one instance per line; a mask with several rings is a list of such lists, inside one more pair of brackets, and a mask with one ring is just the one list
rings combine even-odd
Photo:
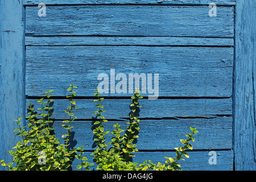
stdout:
[[105,135],[109,133],[109,131],[104,132],[104,125],[103,123],[108,122],[102,115],[102,112],[105,112],[103,110],[104,106],[101,105],[101,101],[104,100],[104,98],[101,98],[101,94],[99,93],[99,90],[96,90],[96,93],[94,93],[95,96],[98,97],[97,100],[94,100],[97,102],[97,107],[99,108],[96,111],[96,115],[99,118],[98,121],[94,123],[94,125],[97,125],[96,129],[93,130],[93,133],[97,136],[96,139],[94,139],[97,142],[97,149],[92,153],[94,155],[94,159],[96,160],[96,164],[98,164],[97,169],[99,170],[114,170],[114,171],[146,171],[147,169],[156,170],[156,171],[164,171],[164,170],[181,170],[180,164],[177,163],[180,159],[185,160],[183,156],[186,158],[189,158],[189,155],[185,150],[191,149],[192,145],[189,143],[191,140],[194,142],[195,138],[192,137],[194,134],[198,133],[195,128],[190,127],[192,133],[189,133],[188,135],[185,135],[188,137],[188,139],[181,139],[180,142],[184,144],[183,147],[176,147],[176,156],[174,158],[165,157],[167,160],[164,164],[158,163],[154,164],[151,160],[144,161],[143,164],[139,164],[138,162],[131,162],[130,158],[135,156],[135,153],[138,151],[136,148],[136,144],[133,144],[134,139],[137,139],[138,133],[139,133],[139,118],[135,117],[135,112],[137,111],[137,107],[141,107],[139,105],[138,100],[143,98],[140,96],[140,91],[138,89],[135,90],[134,96],[131,97],[133,100],[132,104],[130,105],[132,107],[131,113],[130,113],[130,121],[127,122],[129,126],[127,126],[127,130],[123,137],[121,137],[121,133],[124,131],[122,129],[119,129],[120,125],[116,123],[114,126],[114,130],[111,132],[114,137],[112,137],[112,141],[109,142],[112,146],[108,148],[108,144],[105,143]]

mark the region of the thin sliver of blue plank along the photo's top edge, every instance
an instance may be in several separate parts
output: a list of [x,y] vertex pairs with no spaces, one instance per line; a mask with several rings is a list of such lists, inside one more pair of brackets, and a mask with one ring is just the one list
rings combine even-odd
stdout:
[[[38,5],[39,3],[42,3],[42,1],[39,0],[24,0],[23,5]],[[52,1],[52,0],[44,0],[44,3],[46,5],[74,5],[74,4],[158,4],[158,5],[209,5],[210,3],[216,3],[216,5],[236,5],[236,0],[58,0],[58,1]]]

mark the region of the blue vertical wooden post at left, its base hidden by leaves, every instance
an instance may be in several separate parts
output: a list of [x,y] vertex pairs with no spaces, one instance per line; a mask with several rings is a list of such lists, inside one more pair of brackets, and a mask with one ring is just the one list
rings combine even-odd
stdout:
[[0,160],[12,162],[14,119],[25,112],[24,9],[22,0],[0,1]]

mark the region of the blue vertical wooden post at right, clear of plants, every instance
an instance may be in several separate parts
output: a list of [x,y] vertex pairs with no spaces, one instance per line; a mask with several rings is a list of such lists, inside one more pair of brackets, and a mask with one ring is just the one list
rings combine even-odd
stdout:
[[234,64],[234,167],[256,170],[256,1],[237,0]]

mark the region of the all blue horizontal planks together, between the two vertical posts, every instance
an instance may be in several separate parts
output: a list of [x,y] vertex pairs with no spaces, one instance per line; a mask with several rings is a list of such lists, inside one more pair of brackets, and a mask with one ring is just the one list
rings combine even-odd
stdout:
[[[217,17],[208,15],[212,2],[218,6]],[[97,108],[91,96],[101,82],[98,74],[107,73],[110,78],[113,68],[115,75],[124,73],[127,77],[129,73],[159,73],[159,96],[182,98],[141,100],[141,131],[136,141],[140,152],[134,160],[164,162],[164,156],[174,156],[170,150],[181,146],[180,139],[192,126],[199,130],[193,143],[196,151],[189,151],[191,158],[184,162],[183,169],[233,169],[236,1],[46,0],[46,17],[38,16],[38,3],[23,2],[27,5],[26,95],[38,98],[44,90],[54,89],[52,96],[63,97],[68,94],[69,84],[78,86],[77,96],[82,99],[76,100],[80,109],[74,112],[78,120],[72,122],[71,147],[83,145],[86,155],[95,149],[92,130]],[[117,122],[126,129],[131,100],[116,97],[131,94],[105,96],[108,99],[102,104],[109,122],[104,123],[104,130],[112,131]],[[35,99],[28,101],[36,104]],[[67,132],[61,126],[61,120],[67,117],[67,104],[60,98],[53,104],[57,113],[53,126],[61,143],[61,135]],[[113,136],[107,136],[109,142]],[[217,165],[209,164],[209,150],[217,150]],[[92,156],[88,159],[92,162]]]

